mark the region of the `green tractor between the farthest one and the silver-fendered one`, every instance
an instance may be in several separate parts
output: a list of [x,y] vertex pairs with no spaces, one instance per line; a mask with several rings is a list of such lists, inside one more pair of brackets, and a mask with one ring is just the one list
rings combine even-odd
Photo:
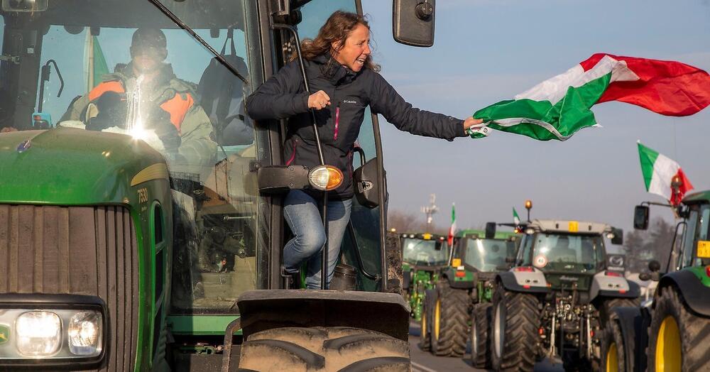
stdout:
[[[495,223],[486,227],[485,232],[457,233],[449,264],[441,271],[435,287],[426,291],[421,320],[422,350],[437,356],[463,356],[469,339],[469,322],[475,328],[473,317],[481,311],[479,305],[491,302],[496,273],[507,270],[508,262],[515,257],[518,234],[496,231]],[[472,349],[475,346],[472,344]]]

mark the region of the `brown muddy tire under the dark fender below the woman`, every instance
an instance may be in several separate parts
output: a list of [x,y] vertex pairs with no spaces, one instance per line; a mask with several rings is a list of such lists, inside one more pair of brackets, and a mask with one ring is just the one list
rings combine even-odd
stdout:
[[239,368],[258,371],[410,371],[409,344],[350,327],[274,328],[251,334]]

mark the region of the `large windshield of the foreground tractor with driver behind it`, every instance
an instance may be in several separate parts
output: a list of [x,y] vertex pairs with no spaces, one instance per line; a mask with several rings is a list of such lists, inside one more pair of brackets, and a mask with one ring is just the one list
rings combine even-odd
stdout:
[[[0,128],[121,133],[162,153],[173,186],[174,310],[230,309],[258,287],[249,169],[271,161],[244,114],[253,86],[147,0],[48,0],[31,12],[20,3],[3,1],[0,13]],[[245,80],[261,81],[248,52],[251,2],[163,3]]]

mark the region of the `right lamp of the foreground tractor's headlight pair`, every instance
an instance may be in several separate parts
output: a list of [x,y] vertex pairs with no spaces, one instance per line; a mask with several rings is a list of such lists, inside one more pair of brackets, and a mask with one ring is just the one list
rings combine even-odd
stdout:
[[69,321],[69,351],[75,355],[97,356],[101,353],[101,313],[77,312]]

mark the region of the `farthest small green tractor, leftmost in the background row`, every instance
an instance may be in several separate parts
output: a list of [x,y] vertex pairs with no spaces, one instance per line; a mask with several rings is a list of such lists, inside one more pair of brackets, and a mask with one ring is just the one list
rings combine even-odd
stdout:
[[445,236],[436,234],[400,234],[402,247],[402,290],[412,308],[412,317],[420,322],[425,291],[434,288],[439,272],[449,260]]

